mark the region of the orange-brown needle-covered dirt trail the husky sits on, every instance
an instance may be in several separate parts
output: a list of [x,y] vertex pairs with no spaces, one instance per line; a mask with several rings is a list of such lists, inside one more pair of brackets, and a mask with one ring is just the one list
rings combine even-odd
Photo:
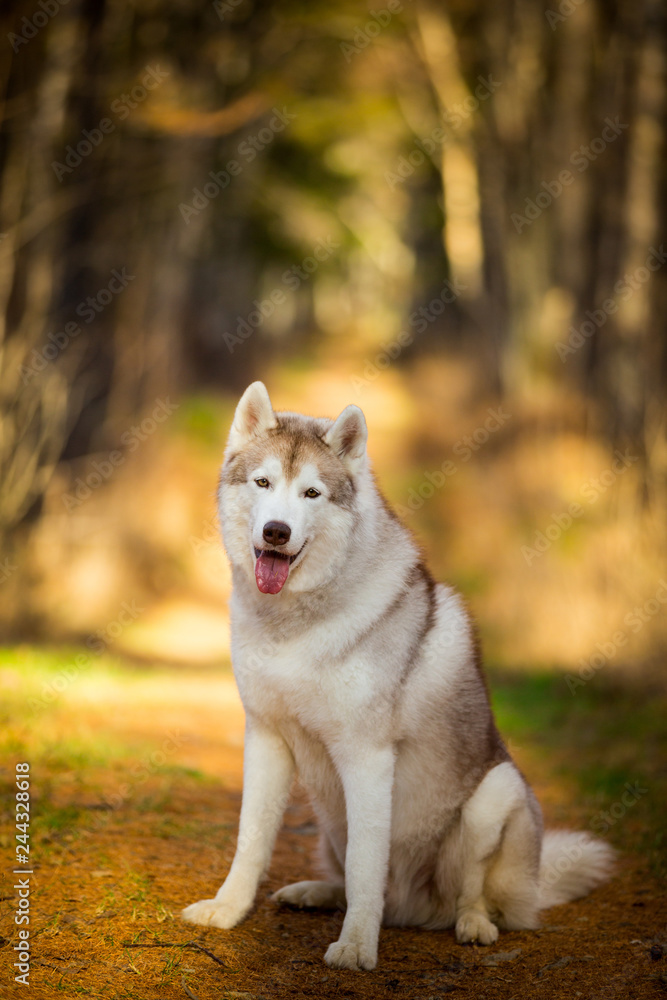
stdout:
[[[314,877],[315,827],[298,795],[286,813],[256,908],[244,924],[223,932],[181,922],[180,908],[210,896],[233,856],[243,719],[233,692],[228,693],[224,726],[219,702],[207,709],[193,698],[180,708],[184,731],[191,736],[181,762],[220,780],[190,780],[182,771],[158,773],[142,783],[140,794],[110,809],[109,789],[117,774],[91,767],[76,783],[54,775],[53,802],[83,808],[85,821],[54,834],[41,857],[37,850],[29,992],[12,982],[8,938],[15,928],[9,910],[4,911],[0,997],[428,1000],[453,994],[603,1000],[665,995],[667,907],[661,887],[638,857],[621,859],[614,880],[591,897],[545,913],[540,930],[501,934],[491,948],[457,945],[451,931],[385,929],[375,972],[328,969],[322,956],[338,936],[342,914],[279,910],[268,900],[280,885]],[[154,727],[163,733],[165,718],[164,712],[147,718],[130,708],[120,719],[108,713],[107,726],[119,732]],[[550,800],[558,801],[560,792],[535,761],[529,773],[546,799],[548,821]],[[2,895],[13,898],[11,883],[5,881]]]

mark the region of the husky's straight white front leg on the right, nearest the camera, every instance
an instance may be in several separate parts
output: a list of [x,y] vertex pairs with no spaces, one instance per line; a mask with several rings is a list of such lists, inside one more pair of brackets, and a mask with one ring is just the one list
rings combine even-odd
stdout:
[[349,746],[335,754],[347,812],[347,913],[324,961],[337,969],[374,969],[389,866],[394,751],[354,749],[354,754]]

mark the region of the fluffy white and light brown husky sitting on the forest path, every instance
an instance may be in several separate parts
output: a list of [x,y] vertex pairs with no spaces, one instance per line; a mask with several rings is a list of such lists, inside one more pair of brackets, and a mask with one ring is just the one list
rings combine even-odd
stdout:
[[232,568],[232,662],[246,712],[236,854],[183,911],[234,927],[253,906],[298,774],[323,881],[272,899],[344,908],[327,965],[373,969],[380,926],[455,928],[492,944],[611,871],[604,842],[543,833],[496,729],[474,627],[384,500],[362,411],[275,413],[243,394],[218,491]]

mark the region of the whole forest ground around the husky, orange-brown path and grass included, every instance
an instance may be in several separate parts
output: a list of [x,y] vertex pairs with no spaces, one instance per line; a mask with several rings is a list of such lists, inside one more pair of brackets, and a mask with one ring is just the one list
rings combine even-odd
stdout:
[[[0,997],[659,997],[667,992],[661,826],[665,699],[596,677],[491,672],[510,748],[550,826],[603,834],[615,877],[490,948],[452,931],[385,929],[372,973],[328,969],[342,914],[278,909],[315,877],[315,827],[295,790],[257,904],[233,931],[183,923],[234,851],[243,715],[228,670],[31,648],[2,655],[4,956]],[[13,981],[14,764],[30,764],[30,988]],[[628,790],[628,786],[630,791]],[[627,794],[626,794],[627,793]],[[11,811],[10,811],[11,810]]]

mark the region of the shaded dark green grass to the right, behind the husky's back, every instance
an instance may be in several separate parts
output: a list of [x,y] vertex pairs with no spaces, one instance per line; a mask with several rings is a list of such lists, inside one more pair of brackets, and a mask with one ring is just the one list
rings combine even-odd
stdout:
[[574,694],[560,672],[490,671],[489,680],[503,736],[578,789],[590,831],[667,874],[667,698],[603,674]]

